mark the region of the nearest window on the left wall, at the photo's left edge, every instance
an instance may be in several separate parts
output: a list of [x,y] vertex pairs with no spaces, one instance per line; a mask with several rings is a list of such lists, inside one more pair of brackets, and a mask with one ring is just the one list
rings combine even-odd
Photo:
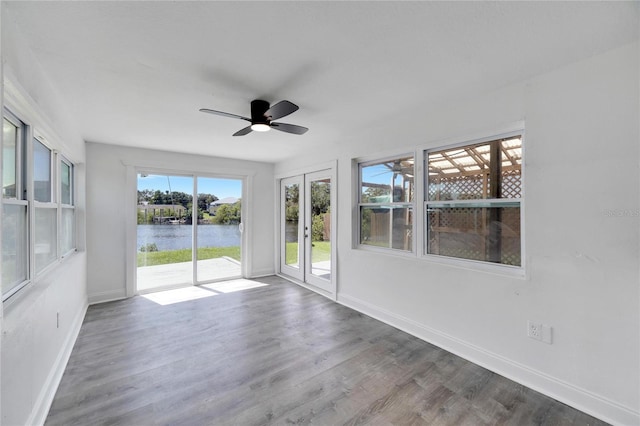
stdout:
[[22,161],[26,126],[11,114],[2,124],[2,296],[3,300],[27,283],[28,216]]

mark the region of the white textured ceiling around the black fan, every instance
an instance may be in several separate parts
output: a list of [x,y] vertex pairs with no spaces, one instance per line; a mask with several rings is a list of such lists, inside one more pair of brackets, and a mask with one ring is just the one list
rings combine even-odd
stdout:
[[[85,140],[276,162],[637,37],[637,2],[2,2]],[[7,13],[8,12],[8,13]],[[252,99],[309,127],[231,135]],[[416,113],[416,131],[419,114]]]

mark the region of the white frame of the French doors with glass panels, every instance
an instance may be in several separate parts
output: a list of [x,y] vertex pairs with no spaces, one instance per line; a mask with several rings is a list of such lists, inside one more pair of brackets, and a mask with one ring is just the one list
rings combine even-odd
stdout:
[[[275,263],[275,270],[276,270],[276,274],[278,276],[281,276],[282,278],[285,278],[289,281],[292,281],[302,287],[305,287],[309,290],[312,290],[318,294],[321,294],[333,301],[336,301],[338,298],[338,280],[337,280],[337,271],[338,271],[338,263],[337,263],[337,251],[338,251],[338,247],[337,247],[337,236],[338,236],[338,177],[337,177],[337,170],[338,170],[338,161],[334,160],[334,161],[330,161],[327,163],[322,163],[322,164],[317,164],[314,166],[309,166],[309,167],[304,167],[304,168],[300,168],[300,169],[295,169],[295,170],[291,170],[288,172],[281,172],[281,173],[276,173],[275,176],[275,194],[276,194],[276,215],[275,215],[275,242],[276,242],[276,250],[274,253],[274,263]],[[286,273],[286,270],[283,271],[282,270],[282,262],[281,262],[281,256],[283,256],[284,250],[282,247],[282,232],[284,232],[284,230],[282,229],[282,181],[283,180],[287,180],[290,178],[295,178],[295,177],[299,177],[300,178],[300,183],[302,185],[303,191],[304,192],[304,187],[306,186],[306,182],[304,180],[304,175],[308,175],[308,174],[312,174],[312,173],[317,173],[317,172],[322,172],[323,174],[325,174],[326,176],[330,177],[331,179],[331,279],[329,280],[329,285],[328,285],[328,290],[325,290],[323,288],[320,288],[316,285],[313,285],[312,283],[308,283],[305,282],[304,280],[304,276],[305,276],[305,271],[304,268],[306,267],[306,263],[307,263],[307,254],[305,251],[300,250],[299,251],[299,258],[300,258],[300,262],[303,262],[304,264],[301,265],[301,277],[298,276],[292,276],[292,275],[288,275]],[[304,199],[300,200],[300,203],[305,203]],[[303,223],[307,220],[307,218],[304,217],[300,217],[299,220],[301,220]],[[302,227],[299,227],[298,229],[300,230]],[[303,230],[304,231],[304,230]],[[299,238],[300,240],[300,238]],[[305,244],[303,244],[304,246]]]

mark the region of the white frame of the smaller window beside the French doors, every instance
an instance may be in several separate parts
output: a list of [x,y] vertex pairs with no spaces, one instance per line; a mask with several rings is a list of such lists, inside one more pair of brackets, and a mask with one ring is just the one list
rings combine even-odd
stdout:
[[[368,167],[376,164],[392,162],[396,160],[402,160],[406,158],[413,159],[413,198],[408,202],[380,202],[380,203],[371,203],[371,202],[362,202],[362,169],[363,167]],[[419,176],[417,174],[418,168],[416,167],[416,152],[415,151],[403,151],[398,154],[393,155],[385,155],[385,156],[377,156],[370,158],[358,158],[354,159],[354,172],[356,174],[356,179],[354,179],[356,187],[355,187],[355,214],[354,214],[354,247],[361,250],[381,252],[387,254],[394,254],[398,256],[404,257],[415,257],[417,252],[417,239],[416,239],[416,228],[417,228],[417,192],[419,191],[419,187],[417,186],[417,182],[419,180]],[[384,247],[384,246],[376,246],[372,244],[363,244],[362,243],[362,208],[363,207],[378,207],[378,208],[389,208],[390,210],[394,208],[408,208],[411,212],[411,247],[409,250],[393,248],[393,247]]]

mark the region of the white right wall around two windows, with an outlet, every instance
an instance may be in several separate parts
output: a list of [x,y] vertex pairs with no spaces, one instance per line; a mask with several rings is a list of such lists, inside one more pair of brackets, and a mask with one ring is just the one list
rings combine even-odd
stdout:
[[[338,159],[338,300],[604,420],[640,423],[638,50],[438,110],[399,109],[345,136],[349,151],[278,164],[282,175]],[[521,120],[527,278],[352,248],[353,158]],[[528,319],[553,327],[552,345],[527,337]]]

